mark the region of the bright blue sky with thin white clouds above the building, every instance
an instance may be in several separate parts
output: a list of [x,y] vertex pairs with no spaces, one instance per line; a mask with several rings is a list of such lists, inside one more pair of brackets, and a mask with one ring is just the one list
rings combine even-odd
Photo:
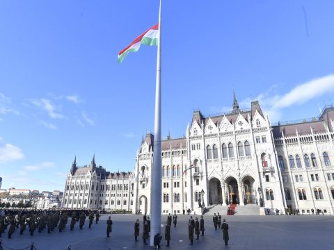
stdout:
[[[74,156],[132,171],[153,131],[156,47],[118,51],[158,1],[0,2],[2,188],[63,190]],[[333,103],[334,1],[163,1],[162,135],[258,99],[271,122]]]

